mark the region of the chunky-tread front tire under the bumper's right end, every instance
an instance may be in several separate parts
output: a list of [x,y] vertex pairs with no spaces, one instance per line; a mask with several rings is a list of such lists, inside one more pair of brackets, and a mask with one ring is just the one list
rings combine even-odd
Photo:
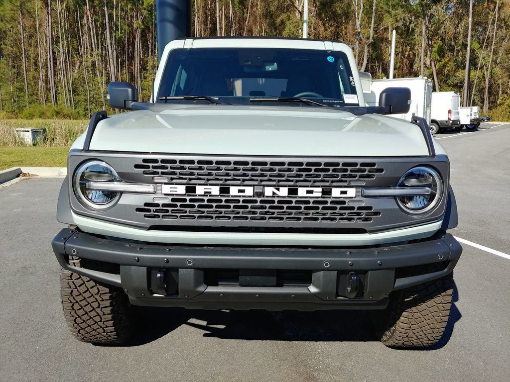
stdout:
[[394,291],[384,310],[370,311],[377,337],[389,347],[424,348],[441,339],[453,296],[453,272],[437,280]]

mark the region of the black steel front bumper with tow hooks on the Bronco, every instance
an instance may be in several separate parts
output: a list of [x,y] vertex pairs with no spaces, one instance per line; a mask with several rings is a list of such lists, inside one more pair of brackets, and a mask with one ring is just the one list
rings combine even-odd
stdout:
[[[450,234],[388,247],[304,249],[162,245],[66,228],[52,246],[63,268],[122,287],[134,305],[241,310],[383,309],[391,291],[449,274],[462,253]],[[69,256],[112,270],[74,267]],[[239,282],[211,282],[222,274]],[[309,275],[309,282],[278,280],[288,274]],[[359,281],[355,295],[352,275]]]

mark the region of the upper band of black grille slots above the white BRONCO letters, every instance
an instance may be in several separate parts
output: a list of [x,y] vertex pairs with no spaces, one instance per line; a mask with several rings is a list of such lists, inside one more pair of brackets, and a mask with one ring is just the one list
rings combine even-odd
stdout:
[[143,158],[134,165],[147,177],[172,184],[341,186],[363,185],[384,169],[374,162],[331,160],[194,160]]

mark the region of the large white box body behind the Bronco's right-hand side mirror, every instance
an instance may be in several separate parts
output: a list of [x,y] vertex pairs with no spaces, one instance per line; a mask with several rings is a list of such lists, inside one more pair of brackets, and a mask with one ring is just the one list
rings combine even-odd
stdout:
[[[363,84],[363,77],[362,77]],[[411,121],[413,116],[423,117],[430,124],[430,104],[432,100],[432,81],[426,77],[416,78],[384,78],[373,79],[370,84],[370,93],[364,89],[365,101],[368,106],[378,106],[379,94],[386,88],[411,89],[411,107],[406,114],[392,115],[394,118]],[[363,86],[365,88],[365,86]]]

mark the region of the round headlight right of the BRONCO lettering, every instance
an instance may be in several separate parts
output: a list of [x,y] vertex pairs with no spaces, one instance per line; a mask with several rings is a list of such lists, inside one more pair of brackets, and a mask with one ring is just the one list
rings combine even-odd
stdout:
[[398,204],[410,213],[425,213],[436,207],[443,194],[443,181],[438,172],[430,167],[419,166],[407,171],[398,182],[398,187],[420,187],[428,189],[427,193],[401,196]]

